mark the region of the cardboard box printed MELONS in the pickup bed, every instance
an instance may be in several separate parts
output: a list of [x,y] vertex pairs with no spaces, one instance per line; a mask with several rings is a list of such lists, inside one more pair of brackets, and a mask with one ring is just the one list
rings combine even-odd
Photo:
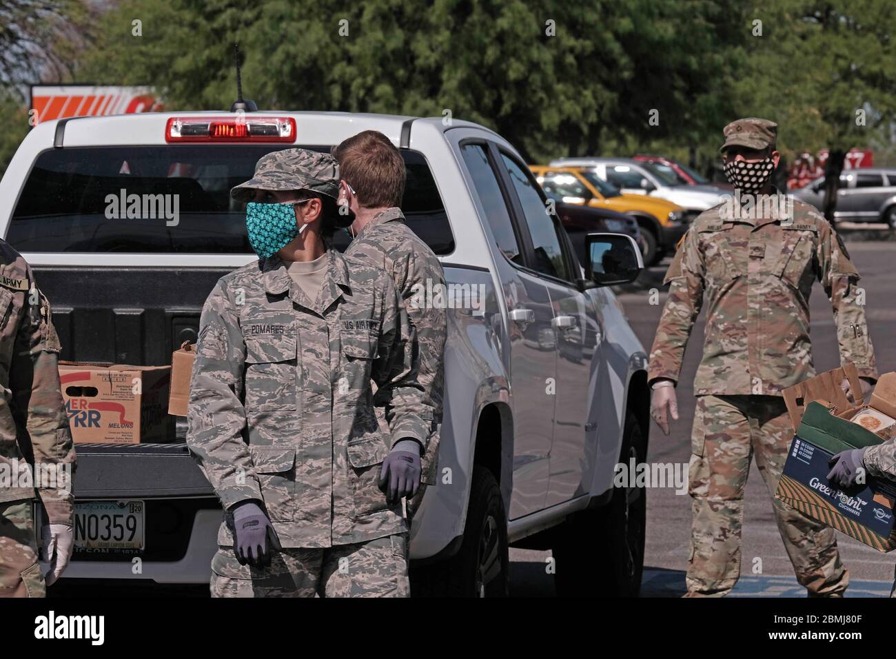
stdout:
[[76,444],[162,443],[171,367],[59,362],[62,397]]

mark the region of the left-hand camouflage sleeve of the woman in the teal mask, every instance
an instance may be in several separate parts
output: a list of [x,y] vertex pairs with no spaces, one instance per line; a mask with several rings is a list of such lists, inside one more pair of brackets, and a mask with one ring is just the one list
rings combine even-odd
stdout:
[[218,282],[202,308],[187,405],[186,444],[225,509],[262,499],[243,441],[246,343],[226,285]]

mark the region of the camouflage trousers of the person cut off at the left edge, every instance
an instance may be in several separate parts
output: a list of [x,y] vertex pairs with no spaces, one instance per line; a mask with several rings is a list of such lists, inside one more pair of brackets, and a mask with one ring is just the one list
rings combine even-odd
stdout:
[[0,597],[46,597],[34,534],[34,503],[0,503]]

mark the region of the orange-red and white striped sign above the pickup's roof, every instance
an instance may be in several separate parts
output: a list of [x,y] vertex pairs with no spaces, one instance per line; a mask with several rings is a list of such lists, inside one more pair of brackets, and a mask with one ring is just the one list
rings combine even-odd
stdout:
[[31,109],[39,124],[64,117],[158,112],[162,105],[151,87],[36,84],[31,87]]

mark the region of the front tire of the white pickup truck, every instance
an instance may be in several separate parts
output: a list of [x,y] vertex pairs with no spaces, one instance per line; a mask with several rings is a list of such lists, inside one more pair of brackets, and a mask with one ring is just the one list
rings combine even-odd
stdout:
[[[643,464],[647,440],[634,415],[625,418],[619,461]],[[553,554],[561,597],[637,597],[644,568],[644,488],[614,488],[606,506],[570,516],[557,527]]]

